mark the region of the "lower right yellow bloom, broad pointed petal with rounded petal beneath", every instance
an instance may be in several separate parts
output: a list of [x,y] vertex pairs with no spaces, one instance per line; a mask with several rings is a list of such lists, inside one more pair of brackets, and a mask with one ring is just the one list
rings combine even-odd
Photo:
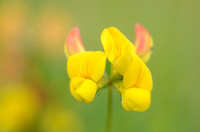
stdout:
[[151,103],[153,82],[149,69],[135,54],[123,75],[120,87],[122,106],[125,110],[145,111]]

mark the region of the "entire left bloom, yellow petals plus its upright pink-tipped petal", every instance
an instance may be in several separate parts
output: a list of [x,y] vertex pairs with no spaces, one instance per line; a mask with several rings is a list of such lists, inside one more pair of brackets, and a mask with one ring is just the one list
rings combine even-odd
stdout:
[[104,74],[104,52],[85,51],[79,29],[74,28],[67,35],[65,53],[68,57],[67,73],[70,78],[71,94],[78,101],[91,103]]

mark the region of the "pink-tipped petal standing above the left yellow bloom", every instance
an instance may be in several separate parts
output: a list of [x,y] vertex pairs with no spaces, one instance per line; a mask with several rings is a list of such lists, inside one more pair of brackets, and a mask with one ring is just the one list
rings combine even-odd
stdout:
[[64,48],[67,57],[85,51],[81,41],[80,31],[77,27],[68,33]]

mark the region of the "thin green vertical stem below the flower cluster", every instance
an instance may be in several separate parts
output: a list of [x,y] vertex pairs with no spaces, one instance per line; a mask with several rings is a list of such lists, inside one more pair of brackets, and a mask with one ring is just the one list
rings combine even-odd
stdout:
[[108,87],[107,132],[112,131],[112,87]]

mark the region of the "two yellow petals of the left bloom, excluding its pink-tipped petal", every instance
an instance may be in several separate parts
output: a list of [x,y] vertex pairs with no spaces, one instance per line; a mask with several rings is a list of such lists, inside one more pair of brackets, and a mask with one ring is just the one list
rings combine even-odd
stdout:
[[70,56],[67,72],[71,94],[78,100],[91,103],[97,92],[97,83],[104,74],[106,56],[101,51],[87,51]]

